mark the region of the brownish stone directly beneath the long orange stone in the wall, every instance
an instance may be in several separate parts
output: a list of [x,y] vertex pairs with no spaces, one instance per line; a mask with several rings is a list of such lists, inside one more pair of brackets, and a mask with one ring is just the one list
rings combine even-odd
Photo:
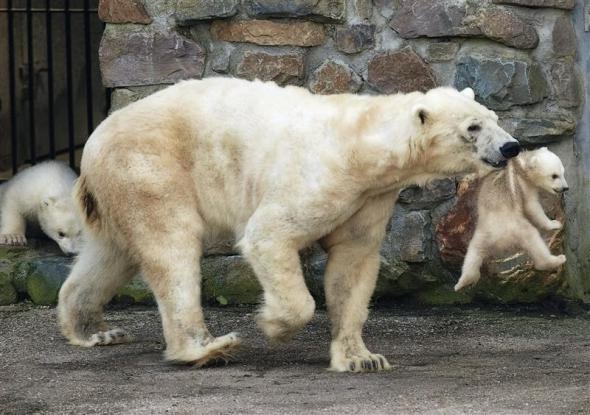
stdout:
[[240,78],[275,81],[279,85],[299,85],[304,75],[303,55],[299,53],[247,51],[236,68],[236,76]]

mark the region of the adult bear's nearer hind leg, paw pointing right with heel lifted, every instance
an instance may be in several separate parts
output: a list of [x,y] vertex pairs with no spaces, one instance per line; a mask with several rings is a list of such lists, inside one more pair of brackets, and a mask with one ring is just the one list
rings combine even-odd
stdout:
[[213,337],[207,330],[201,308],[201,243],[195,229],[200,219],[184,211],[182,220],[174,228],[154,226],[151,234],[144,234],[141,270],[162,317],[166,360],[201,367],[229,360],[240,341],[236,333]]

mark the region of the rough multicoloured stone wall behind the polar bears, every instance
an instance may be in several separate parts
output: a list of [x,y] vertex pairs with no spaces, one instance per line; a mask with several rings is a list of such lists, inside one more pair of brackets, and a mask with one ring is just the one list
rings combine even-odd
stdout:
[[[209,76],[273,80],[318,94],[469,86],[522,143],[558,143],[567,153],[583,101],[573,8],[574,0],[102,0],[100,64],[114,109],[178,80]],[[452,292],[473,227],[475,187],[447,179],[401,194],[376,299],[533,302],[572,293],[563,270],[535,272],[522,254],[490,262],[476,289]],[[548,200],[547,208],[563,218],[561,201]],[[555,251],[564,249],[562,233],[547,237]],[[206,297],[254,301],[257,286],[241,258],[216,254],[204,263]],[[302,255],[310,289],[321,298],[325,254],[313,247]]]

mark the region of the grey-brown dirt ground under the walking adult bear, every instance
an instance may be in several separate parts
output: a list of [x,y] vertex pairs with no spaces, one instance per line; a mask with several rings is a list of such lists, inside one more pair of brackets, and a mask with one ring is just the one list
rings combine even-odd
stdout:
[[55,310],[0,307],[0,414],[588,414],[590,315],[531,309],[373,310],[366,340],[395,370],[337,374],[325,312],[271,347],[252,309],[207,309],[214,334],[238,330],[227,366],[162,360],[156,309],[110,311],[137,341],[66,344]]

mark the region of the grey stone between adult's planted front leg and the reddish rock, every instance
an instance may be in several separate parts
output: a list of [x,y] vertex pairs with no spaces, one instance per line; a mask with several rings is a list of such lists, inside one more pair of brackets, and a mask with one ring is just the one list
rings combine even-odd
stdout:
[[424,262],[427,258],[427,241],[430,217],[428,211],[396,209],[387,227],[383,244],[386,258],[404,262]]

